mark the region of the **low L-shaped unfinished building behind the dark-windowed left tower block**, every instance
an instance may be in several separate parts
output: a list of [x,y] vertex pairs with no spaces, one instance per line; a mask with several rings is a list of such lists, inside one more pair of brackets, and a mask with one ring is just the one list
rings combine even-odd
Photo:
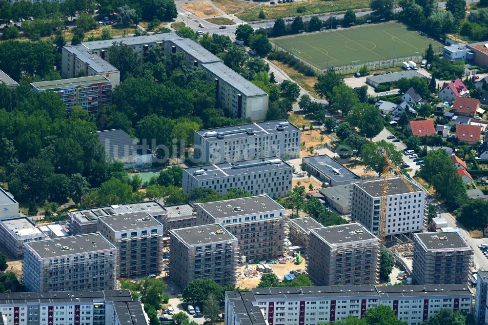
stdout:
[[163,205],[156,201],[113,204],[71,211],[68,213],[70,232],[72,235],[97,232],[99,217],[140,211],[147,211],[153,218],[160,222],[163,220],[163,216],[166,216],[168,213]]

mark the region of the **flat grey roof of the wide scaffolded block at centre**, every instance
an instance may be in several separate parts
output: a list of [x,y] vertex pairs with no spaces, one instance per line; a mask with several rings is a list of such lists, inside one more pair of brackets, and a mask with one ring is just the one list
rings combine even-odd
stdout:
[[[250,196],[241,199],[197,203],[204,211],[215,219],[238,217],[248,214],[260,214],[268,211],[284,210],[285,208],[267,195]],[[280,218],[280,216],[274,216]]]

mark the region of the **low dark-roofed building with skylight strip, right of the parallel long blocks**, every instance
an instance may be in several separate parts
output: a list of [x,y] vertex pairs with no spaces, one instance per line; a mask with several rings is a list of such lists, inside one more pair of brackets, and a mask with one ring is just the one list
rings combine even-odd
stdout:
[[347,185],[361,180],[358,175],[328,155],[306,157],[302,162],[306,165],[307,173],[330,186]]

